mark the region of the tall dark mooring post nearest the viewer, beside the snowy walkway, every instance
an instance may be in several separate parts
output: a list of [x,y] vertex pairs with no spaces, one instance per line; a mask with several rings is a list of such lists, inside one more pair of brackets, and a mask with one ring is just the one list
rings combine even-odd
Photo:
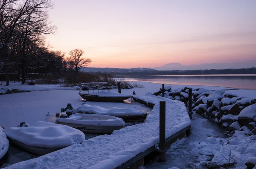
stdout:
[[[160,101],[159,110],[159,161],[166,161],[165,139],[166,139],[166,102]],[[162,151],[161,151],[162,150]]]

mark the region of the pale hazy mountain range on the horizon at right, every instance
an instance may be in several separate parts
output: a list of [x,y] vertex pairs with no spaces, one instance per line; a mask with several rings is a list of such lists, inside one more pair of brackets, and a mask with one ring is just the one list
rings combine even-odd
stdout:
[[256,67],[256,61],[235,63],[204,63],[201,65],[181,65],[180,63],[169,63],[156,70],[205,70],[205,69],[241,69]]

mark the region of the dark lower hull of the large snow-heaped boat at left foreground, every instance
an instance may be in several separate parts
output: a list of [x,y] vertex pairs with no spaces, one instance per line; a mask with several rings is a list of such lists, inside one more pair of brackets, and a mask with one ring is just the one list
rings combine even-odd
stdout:
[[19,141],[14,140],[14,139],[12,139],[12,138],[8,138],[8,139],[9,139],[9,141],[10,141],[12,144],[14,144],[14,145],[16,145],[16,146],[18,146],[18,147],[20,147],[20,148],[22,148],[22,149],[25,149],[26,151],[32,152],[32,153],[34,153],[34,154],[37,154],[37,155],[45,155],[45,154],[48,154],[48,153],[50,153],[50,152],[54,152],[54,151],[56,151],[56,150],[58,150],[58,149],[64,148],[64,147],[62,147],[62,148],[56,148],[56,149],[39,148],[39,147],[34,147],[34,146],[28,146],[28,145],[26,145],[26,144],[23,144],[23,143],[21,143],[21,142],[19,142]]

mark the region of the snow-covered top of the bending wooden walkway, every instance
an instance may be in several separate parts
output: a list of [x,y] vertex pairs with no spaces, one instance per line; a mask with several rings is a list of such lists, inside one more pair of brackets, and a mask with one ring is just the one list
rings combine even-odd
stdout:
[[159,142],[159,101],[166,101],[166,138],[191,125],[185,104],[157,96],[136,96],[155,102],[147,121],[99,135],[67,148],[9,166],[13,168],[113,169]]

